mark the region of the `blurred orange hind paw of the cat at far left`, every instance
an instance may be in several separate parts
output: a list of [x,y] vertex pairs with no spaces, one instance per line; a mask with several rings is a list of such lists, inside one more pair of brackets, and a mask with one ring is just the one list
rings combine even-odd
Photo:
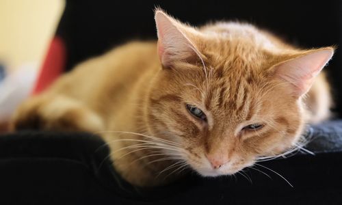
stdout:
[[64,96],[37,96],[18,108],[10,127],[12,131],[40,129],[94,133],[103,130],[103,121],[76,100]]

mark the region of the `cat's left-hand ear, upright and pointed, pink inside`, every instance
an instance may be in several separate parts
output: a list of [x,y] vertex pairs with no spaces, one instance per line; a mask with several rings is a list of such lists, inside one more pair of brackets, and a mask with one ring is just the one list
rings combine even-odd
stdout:
[[155,12],[155,23],[158,55],[164,68],[172,66],[175,61],[189,61],[199,55],[196,46],[190,40],[194,29],[179,23],[161,10]]

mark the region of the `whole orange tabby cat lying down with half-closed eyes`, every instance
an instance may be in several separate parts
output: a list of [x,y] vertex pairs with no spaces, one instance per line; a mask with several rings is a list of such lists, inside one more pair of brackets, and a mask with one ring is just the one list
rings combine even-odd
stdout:
[[157,42],[88,59],[23,102],[12,130],[101,135],[122,178],[221,176],[289,152],[330,115],[322,68],[334,48],[298,49],[248,23],[202,27],[155,10]]

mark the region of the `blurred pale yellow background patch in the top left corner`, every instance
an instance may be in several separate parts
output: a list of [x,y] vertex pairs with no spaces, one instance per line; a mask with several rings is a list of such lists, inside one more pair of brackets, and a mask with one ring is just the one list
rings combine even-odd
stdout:
[[64,5],[62,0],[0,1],[0,61],[10,72],[27,63],[40,67]]

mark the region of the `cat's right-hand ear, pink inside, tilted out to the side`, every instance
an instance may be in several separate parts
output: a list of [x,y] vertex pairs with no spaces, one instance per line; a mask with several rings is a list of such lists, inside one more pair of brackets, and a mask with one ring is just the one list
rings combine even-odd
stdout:
[[326,66],[333,54],[334,49],[331,47],[306,51],[276,65],[276,77],[293,85],[294,96],[302,96],[308,92],[315,77]]

